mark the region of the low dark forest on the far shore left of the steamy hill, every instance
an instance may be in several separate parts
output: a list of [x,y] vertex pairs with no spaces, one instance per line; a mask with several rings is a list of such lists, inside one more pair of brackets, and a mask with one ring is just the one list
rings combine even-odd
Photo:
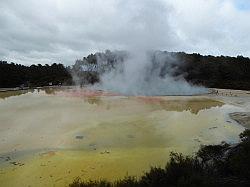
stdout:
[[37,87],[71,84],[71,75],[62,64],[31,65],[0,61],[0,87]]

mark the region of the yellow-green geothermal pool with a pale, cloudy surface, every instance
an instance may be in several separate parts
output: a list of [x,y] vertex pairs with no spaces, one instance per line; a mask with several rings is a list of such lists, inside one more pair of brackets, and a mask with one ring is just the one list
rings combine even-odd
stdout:
[[171,151],[235,143],[249,96],[121,96],[87,89],[0,92],[0,186],[67,186],[164,166]]

